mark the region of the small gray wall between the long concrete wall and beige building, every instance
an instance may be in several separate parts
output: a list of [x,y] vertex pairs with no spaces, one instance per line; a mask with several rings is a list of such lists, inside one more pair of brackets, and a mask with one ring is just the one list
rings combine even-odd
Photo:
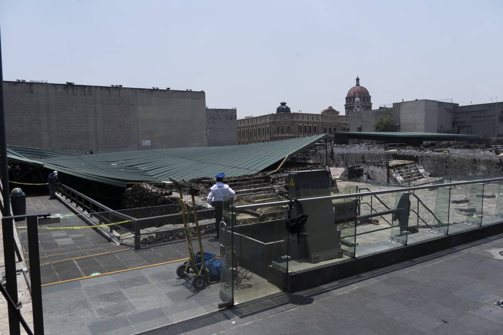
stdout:
[[208,147],[238,144],[237,111],[233,109],[206,109]]

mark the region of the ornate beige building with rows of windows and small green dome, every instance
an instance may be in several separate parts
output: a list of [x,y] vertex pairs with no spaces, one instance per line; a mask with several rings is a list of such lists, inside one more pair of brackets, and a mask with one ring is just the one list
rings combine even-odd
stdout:
[[339,115],[332,106],[319,114],[292,113],[289,110],[285,103],[281,103],[276,113],[238,120],[238,145],[332,134],[349,127],[349,118]]

